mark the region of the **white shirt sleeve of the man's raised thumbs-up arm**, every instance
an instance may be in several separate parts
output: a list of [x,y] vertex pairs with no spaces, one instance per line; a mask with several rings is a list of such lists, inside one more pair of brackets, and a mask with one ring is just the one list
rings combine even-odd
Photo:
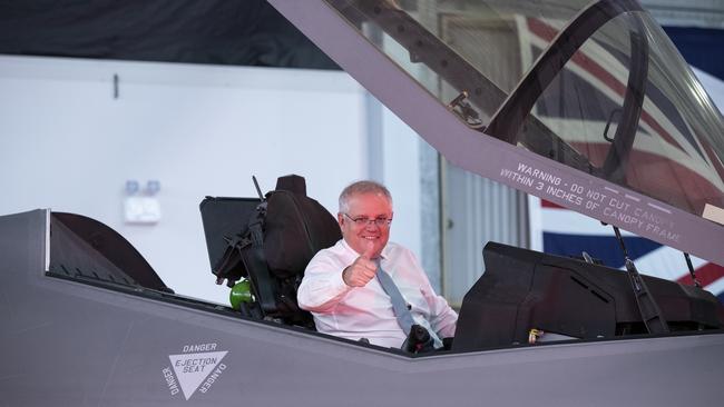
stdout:
[[314,312],[330,312],[352,289],[342,279],[343,265],[320,251],[304,270],[296,294],[300,308]]

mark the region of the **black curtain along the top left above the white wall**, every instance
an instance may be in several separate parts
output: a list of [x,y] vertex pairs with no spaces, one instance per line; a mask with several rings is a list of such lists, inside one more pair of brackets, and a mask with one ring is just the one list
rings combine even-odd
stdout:
[[0,53],[339,69],[263,0],[0,1]]

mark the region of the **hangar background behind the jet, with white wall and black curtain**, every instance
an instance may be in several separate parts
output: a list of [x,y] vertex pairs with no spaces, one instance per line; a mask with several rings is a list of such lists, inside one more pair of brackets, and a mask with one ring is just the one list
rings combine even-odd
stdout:
[[[401,2],[443,38],[517,46],[505,27],[466,19],[472,1],[446,12]],[[642,3],[723,106],[724,57],[714,50],[724,3]],[[454,305],[483,271],[485,242],[546,249],[539,200],[448,163],[263,1],[29,1],[3,3],[0,16],[0,212],[96,218],[179,294],[227,302],[209,272],[198,204],[256,196],[253,175],[270,190],[300,173],[332,214],[349,181],[384,182],[395,199],[392,240],[418,254]],[[490,61],[512,87],[521,62]],[[128,205],[141,197],[151,208],[139,215]]]

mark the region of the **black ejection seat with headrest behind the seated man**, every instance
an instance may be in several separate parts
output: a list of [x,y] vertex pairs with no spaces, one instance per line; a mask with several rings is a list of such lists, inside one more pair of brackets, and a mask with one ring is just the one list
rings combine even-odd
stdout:
[[303,177],[280,177],[273,191],[257,191],[258,198],[206,197],[200,204],[216,284],[250,282],[252,299],[238,305],[246,317],[314,329],[296,290],[312,257],[342,238],[340,227],[306,196]]

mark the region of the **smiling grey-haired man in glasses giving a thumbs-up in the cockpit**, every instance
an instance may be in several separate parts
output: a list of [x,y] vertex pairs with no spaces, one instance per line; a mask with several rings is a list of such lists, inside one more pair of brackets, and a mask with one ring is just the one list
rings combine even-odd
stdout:
[[[424,327],[440,348],[441,338],[454,335],[458,315],[434,292],[412,251],[388,242],[390,191],[374,181],[348,186],[340,195],[337,221],[343,239],[314,256],[297,294],[300,307],[312,312],[316,329],[400,348],[408,338],[399,315],[407,312],[399,311],[403,300],[408,318]],[[392,277],[402,298],[387,294],[394,288],[381,272]]]

